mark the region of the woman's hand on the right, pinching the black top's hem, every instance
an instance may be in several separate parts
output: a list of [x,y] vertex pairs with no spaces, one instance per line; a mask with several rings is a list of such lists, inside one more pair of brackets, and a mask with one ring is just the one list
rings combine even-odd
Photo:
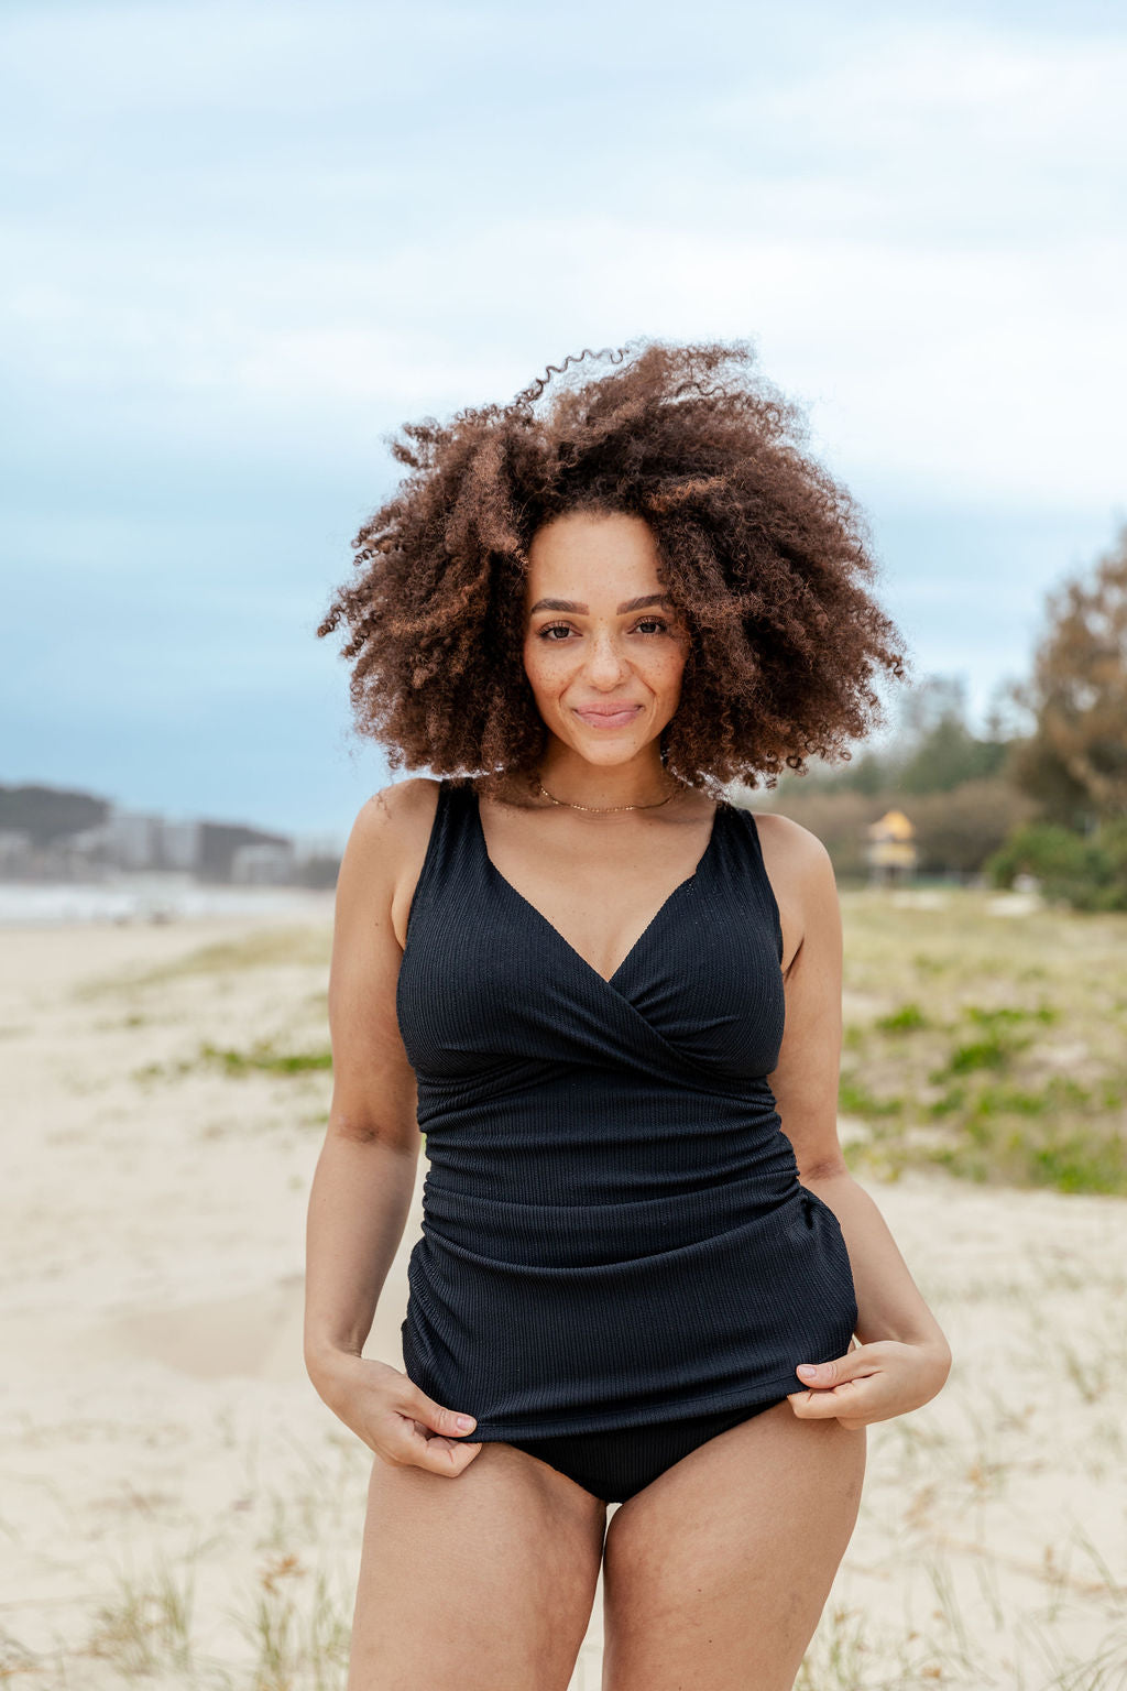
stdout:
[[808,1388],[789,1392],[787,1400],[803,1420],[833,1415],[843,1427],[867,1427],[870,1420],[890,1420],[928,1404],[950,1371],[946,1346],[874,1339],[818,1363],[811,1375],[799,1373]]

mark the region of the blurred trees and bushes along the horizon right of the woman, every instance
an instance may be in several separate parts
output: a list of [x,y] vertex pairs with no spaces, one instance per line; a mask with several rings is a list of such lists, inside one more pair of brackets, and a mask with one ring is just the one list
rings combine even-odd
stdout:
[[1127,910],[1127,524],[1048,594],[1031,673],[1002,687],[985,732],[963,685],[931,676],[887,746],[786,773],[764,798],[818,834],[838,876],[867,873],[867,825],[901,808],[921,876],[1029,874],[1053,901]]

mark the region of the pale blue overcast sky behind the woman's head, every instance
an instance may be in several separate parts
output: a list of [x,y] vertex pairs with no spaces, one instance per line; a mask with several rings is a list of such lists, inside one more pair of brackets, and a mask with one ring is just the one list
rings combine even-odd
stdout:
[[384,436],[585,345],[752,340],[973,717],[1127,521],[1122,7],[0,30],[0,781],[341,840],[389,774],[314,627]]

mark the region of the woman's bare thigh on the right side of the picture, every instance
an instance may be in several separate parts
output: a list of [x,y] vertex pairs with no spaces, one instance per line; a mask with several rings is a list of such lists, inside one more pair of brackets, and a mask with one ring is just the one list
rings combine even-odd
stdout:
[[612,1515],[603,1691],[791,1691],[852,1537],[865,1429],[776,1404]]

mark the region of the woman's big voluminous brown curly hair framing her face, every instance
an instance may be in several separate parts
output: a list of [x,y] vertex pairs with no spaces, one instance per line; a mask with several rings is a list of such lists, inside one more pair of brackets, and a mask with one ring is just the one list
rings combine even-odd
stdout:
[[[617,369],[566,375],[588,357]],[[411,473],[351,541],[318,636],[346,619],[357,729],[392,769],[473,771],[488,791],[532,771],[547,729],[522,661],[529,546],[576,509],[640,516],[656,538],[691,636],[661,746],[674,776],[774,786],[784,764],[848,759],[882,720],[874,668],[904,680],[906,656],[863,587],[865,519],[754,362],[749,342],[583,348],[505,406],[387,436]]]

